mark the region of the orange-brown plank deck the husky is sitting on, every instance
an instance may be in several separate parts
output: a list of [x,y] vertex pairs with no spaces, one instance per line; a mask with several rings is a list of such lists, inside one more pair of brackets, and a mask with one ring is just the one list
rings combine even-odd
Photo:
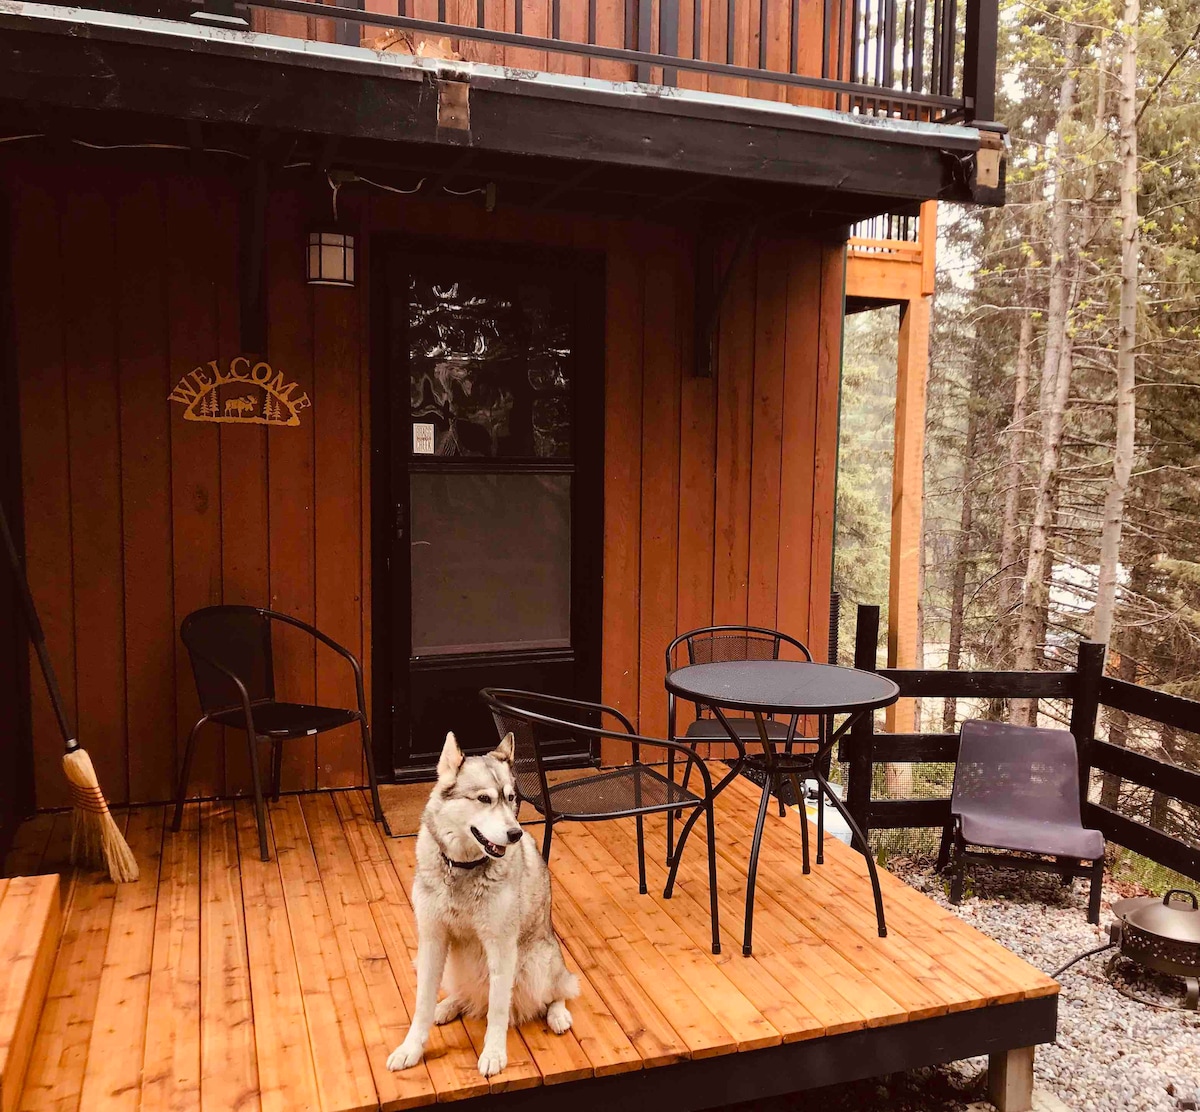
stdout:
[[[488,1093],[611,1107],[652,1099],[661,1078],[660,1100],[698,1108],[1052,1038],[1052,980],[887,874],[878,938],[862,858],[829,841],[802,876],[794,815],[770,817],[756,952],[743,957],[755,794],[738,780],[720,800],[718,957],[698,834],[665,901],[662,823],[649,824],[647,896],[631,822],[559,828],[554,921],[582,974],[575,1027],[510,1032],[491,1082],[478,1021],[434,1029],[420,1065],[384,1069],[415,994],[414,840],[384,837],[360,793],[274,805],[266,864],[245,803],[191,806],[178,835],[162,807],[134,810],[139,883],[64,876],[66,927],[19,1107],[341,1112]],[[8,870],[59,867],[66,827],[26,824]]]

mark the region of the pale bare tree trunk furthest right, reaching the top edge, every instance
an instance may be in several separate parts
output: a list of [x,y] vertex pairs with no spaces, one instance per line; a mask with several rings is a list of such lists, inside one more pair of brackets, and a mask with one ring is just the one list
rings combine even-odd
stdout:
[[1112,444],[1112,477],[1104,497],[1100,527],[1100,566],[1092,612],[1092,639],[1112,638],[1116,612],[1117,570],[1124,503],[1133,474],[1136,434],[1135,348],[1138,343],[1138,19],[1140,0],[1124,0],[1121,50],[1121,94],[1117,120],[1121,143],[1121,305],[1117,317],[1116,432]]

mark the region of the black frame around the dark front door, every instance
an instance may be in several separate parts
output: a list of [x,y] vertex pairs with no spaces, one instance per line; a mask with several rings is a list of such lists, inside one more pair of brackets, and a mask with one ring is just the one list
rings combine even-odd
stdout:
[[[601,252],[574,251],[542,247],[529,244],[498,244],[487,241],[461,240],[446,242],[428,236],[406,233],[374,233],[368,247],[370,276],[370,399],[371,399],[371,720],[372,737],[376,749],[376,765],[380,770],[391,770],[396,781],[428,780],[433,767],[403,764],[397,759],[400,741],[395,737],[394,723],[396,708],[394,692],[396,690],[397,669],[408,669],[407,642],[401,645],[395,636],[397,614],[408,612],[408,600],[398,600],[394,590],[396,576],[391,567],[392,539],[395,530],[408,523],[398,519],[400,505],[397,491],[397,469],[392,458],[394,419],[392,407],[397,404],[391,380],[391,297],[389,288],[389,270],[398,252],[414,254],[438,254],[463,260],[510,262],[516,258],[522,266],[546,265],[570,269],[581,276],[584,287],[594,297],[595,313],[582,314],[580,325],[580,343],[577,345],[576,413],[590,415],[587,429],[582,421],[576,421],[576,434],[584,432],[580,449],[589,452],[592,461],[588,469],[592,481],[578,499],[589,506],[587,522],[576,521],[572,515],[572,579],[574,565],[578,553],[587,552],[593,561],[599,563],[594,576],[595,596],[581,599],[582,606],[572,602],[572,643],[576,649],[580,669],[587,677],[588,687],[594,689],[594,697],[600,697],[600,660],[602,650],[602,579],[604,579],[604,371],[605,371],[605,266],[606,258]],[[547,461],[548,463],[548,461]],[[577,473],[578,474],[578,473]],[[407,481],[407,474],[404,476]],[[587,481],[587,480],[586,480]],[[407,497],[404,498],[407,503]],[[401,605],[402,603],[402,605]],[[580,614],[582,613],[582,621]],[[594,630],[589,643],[578,626]],[[522,659],[524,654],[512,654]],[[599,755],[593,755],[598,759]],[[566,765],[577,765],[578,758],[568,759]]]

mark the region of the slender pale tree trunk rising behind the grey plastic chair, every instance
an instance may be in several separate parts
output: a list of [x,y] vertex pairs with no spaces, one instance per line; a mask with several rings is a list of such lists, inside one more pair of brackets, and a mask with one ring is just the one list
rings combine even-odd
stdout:
[[[1033,521],[1030,524],[1028,557],[1025,565],[1020,620],[1016,627],[1015,665],[1031,671],[1038,663],[1040,629],[1046,608],[1048,547],[1054,524],[1054,504],[1058,459],[1062,453],[1063,414],[1070,396],[1072,342],[1067,324],[1073,302],[1072,278],[1078,277],[1076,260],[1070,258],[1070,202],[1067,197],[1066,133],[1070,130],[1079,89],[1079,28],[1067,25],[1067,66],[1058,91],[1055,132],[1060,169],[1055,175],[1050,202],[1050,288],[1046,305],[1046,341],[1042,360],[1042,387],[1038,414],[1042,425],[1042,458],[1038,467]],[[1037,703],[1014,699],[1013,721],[1032,725]]]

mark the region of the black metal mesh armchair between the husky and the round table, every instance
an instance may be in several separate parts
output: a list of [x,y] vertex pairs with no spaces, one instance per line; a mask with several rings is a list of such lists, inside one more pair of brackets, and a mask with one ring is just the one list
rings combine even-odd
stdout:
[[[720,920],[716,908],[716,840],[713,815],[713,780],[704,762],[688,746],[660,738],[646,738],[634,731],[632,723],[614,707],[586,703],[560,696],[533,691],[512,691],[485,687],[480,696],[491,708],[500,740],[509,733],[516,743],[514,779],[517,794],[546,821],[541,855],[550,861],[554,824],[560,822],[600,822],[610,818],[635,818],[637,827],[637,886],[646,892],[646,835],[642,818],[666,812],[686,813],[674,853],[667,859],[664,898],[674,891],[676,874],[688,835],[701,815],[708,829],[708,891],[713,918],[713,952],[721,952]],[[542,747],[548,743],[576,740],[592,744],[605,738],[620,741],[630,749],[630,763],[595,775],[581,776],[560,783],[546,779]],[[692,765],[700,777],[701,791],[690,791],[676,783],[654,765],[642,761],[642,747],[666,749]]]

